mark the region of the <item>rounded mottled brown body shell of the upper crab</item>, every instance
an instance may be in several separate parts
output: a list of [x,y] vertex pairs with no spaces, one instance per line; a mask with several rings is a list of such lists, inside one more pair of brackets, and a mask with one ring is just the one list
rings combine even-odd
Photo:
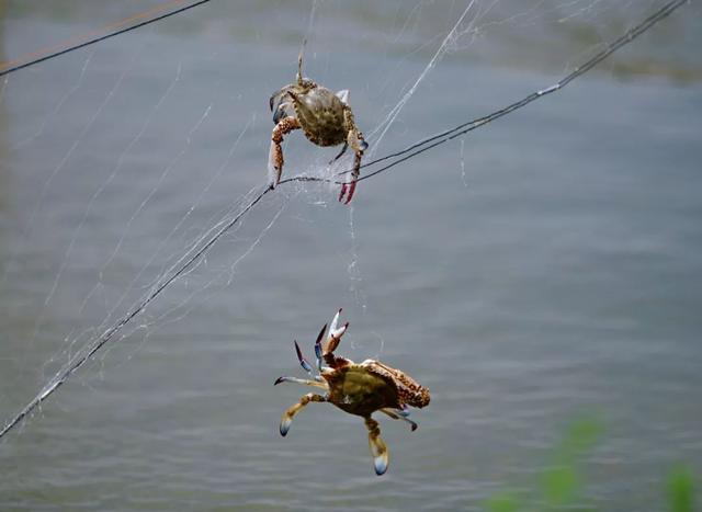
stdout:
[[347,139],[343,103],[329,89],[317,87],[305,94],[294,94],[295,115],[305,137],[317,146],[338,146]]

